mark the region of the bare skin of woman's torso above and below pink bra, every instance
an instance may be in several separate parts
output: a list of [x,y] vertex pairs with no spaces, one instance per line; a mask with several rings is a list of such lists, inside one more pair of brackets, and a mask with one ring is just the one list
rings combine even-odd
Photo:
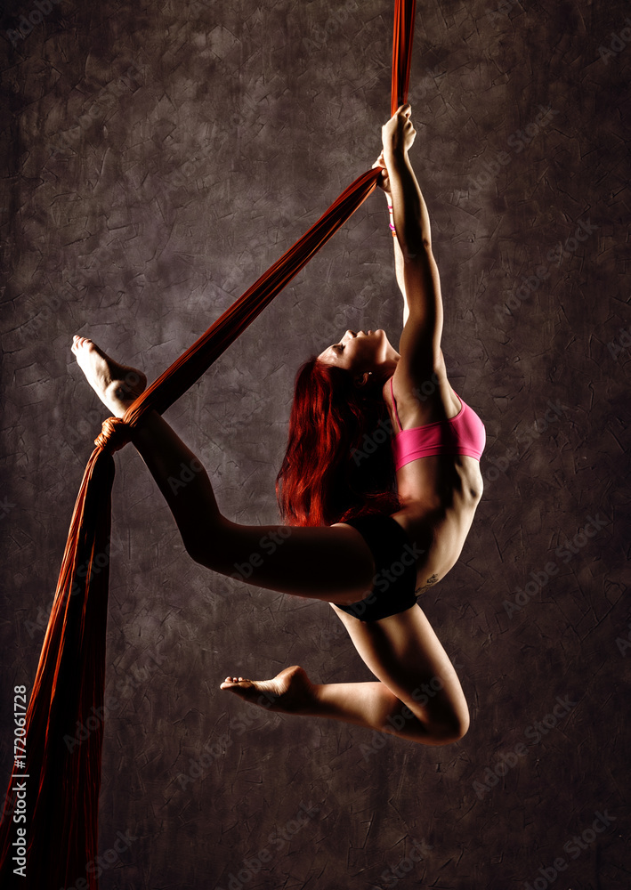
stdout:
[[[462,410],[463,403],[447,379],[444,361],[432,383],[416,387],[416,392],[416,396],[399,392],[395,383],[395,405],[390,380],[384,384],[392,434],[399,431],[399,423],[410,430],[457,417]],[[392,518],[425,550],[425,556],[417,562],[417,594],[440,581],[457,562],[482,488],[479,461],[464,454],[421,457],[397,470],[401,509]]]

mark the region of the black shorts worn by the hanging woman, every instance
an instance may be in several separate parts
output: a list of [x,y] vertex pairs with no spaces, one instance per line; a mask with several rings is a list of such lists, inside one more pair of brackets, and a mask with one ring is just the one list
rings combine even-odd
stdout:
[[357,529],[368,544],[375,575],[372,590],[363,600],[350,606],[335,603],[337,608],[360,621],[378,621],[413,606],[417,602],[417,557],[424,551],[412,545],[392,516],[358,516],[344,523]]

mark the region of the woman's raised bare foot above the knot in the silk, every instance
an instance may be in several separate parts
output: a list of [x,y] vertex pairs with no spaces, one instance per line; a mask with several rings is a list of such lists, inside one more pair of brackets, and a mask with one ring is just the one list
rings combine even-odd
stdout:
[[73,337],[72,352],[77,356],[77,364],[84,372],[104,405],[114,417],[123,417],[147,385],[147,377],[137,368],[119,365],[109,358],[102,349],[85,336]]

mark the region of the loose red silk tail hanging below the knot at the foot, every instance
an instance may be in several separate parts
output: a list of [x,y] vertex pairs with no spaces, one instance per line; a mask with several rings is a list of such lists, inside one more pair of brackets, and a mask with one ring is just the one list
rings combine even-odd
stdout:
[[[3,890],[96,886],[76,881],[89,880],[97,854],[113,480],[111,455],[95,449],[77,496],[26,725],[15,736],[0,827]],[[23,716],[19,695],[16,724]]]

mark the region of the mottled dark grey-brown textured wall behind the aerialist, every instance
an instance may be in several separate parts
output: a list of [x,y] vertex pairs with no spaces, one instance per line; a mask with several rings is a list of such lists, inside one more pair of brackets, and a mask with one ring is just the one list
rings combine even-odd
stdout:
[[[392,5],[8,3],[3,782],[12,687],[31,688],[107,416],[72,335],[154,379],[371,166]],[[488,434],[473,529],[421,603],[458,666],[469,732],[424,748],[221,692],[228,673],[296,663],[317,682],[371,676],[325,603],[191,562],[127,447],[101,853],[128,843],[104,861],[103,890],[628,886],[630,62],[623,0],[418,4],[411,157],[449,376]],[[278,520],[300,362],[347,327],[398,343],[384,206],[369,198],[166,414],[234,521]]]

